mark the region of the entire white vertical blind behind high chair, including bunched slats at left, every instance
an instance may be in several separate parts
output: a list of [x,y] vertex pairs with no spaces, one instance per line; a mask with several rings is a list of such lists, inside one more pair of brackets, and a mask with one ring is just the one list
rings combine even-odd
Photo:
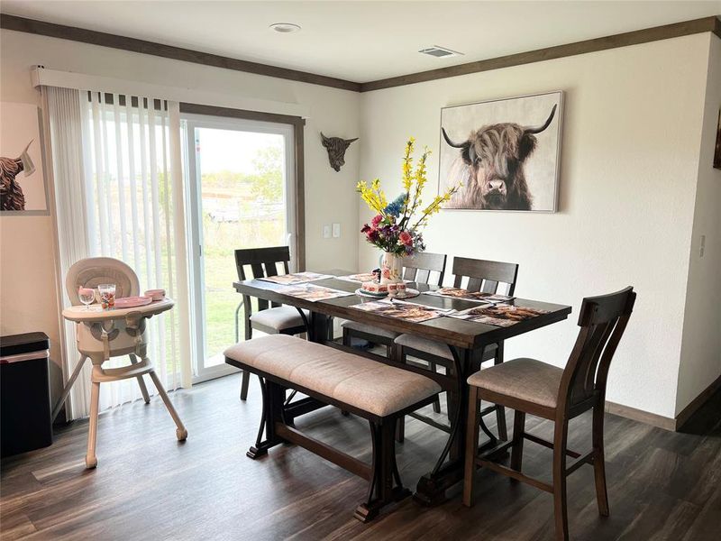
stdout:
[[[141,291],[166,289],[177,305],[149,321],[148,355],[167,388],[189,387],[178,104],[68,88],[46,92],[62,278],[78,259],[103,255],[128,263]],[[78,359],[74,339],[67,343],[66,373]],[[125,363],[111,359],[104,366]],[[84,374],[71,395],[73,418],[87,415],[88,381]],[[139,398],[136,381],[117,381],[103,386],[101,408]]]

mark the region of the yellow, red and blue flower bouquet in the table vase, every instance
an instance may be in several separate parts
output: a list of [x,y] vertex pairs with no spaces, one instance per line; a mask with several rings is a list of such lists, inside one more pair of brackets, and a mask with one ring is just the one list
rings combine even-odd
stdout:
[[428,206],[423,206],[423,189],[427,182],[425,161],[431,151],[424,148],[423,154],[413,171],[413,153],[415,139],[411,137],[406,143],[403,158],[403,189],[404,192],[388,203],[386,194],[380,188],[380,180],[375,179],[368,184],[361,180],[356,191],[370,210],[378,214],[360,229],[366,240],[381,250],[397,255],[413,255],[423,252],[425,245],[421,230],[428,223],[428,218],[441,210],[443,203],[451,199],[460,186],[448,189],[443,195],[435,196]]

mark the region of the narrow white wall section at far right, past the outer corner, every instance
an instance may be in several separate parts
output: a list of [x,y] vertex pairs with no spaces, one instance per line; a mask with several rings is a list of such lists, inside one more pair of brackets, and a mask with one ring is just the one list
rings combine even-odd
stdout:
[[[696,214],[683,319],[676,413],[721,376],[721,170],[712,167],[721,108],[721,40],[710,41],[701,130]],[[700,256],[701,236],[706,236]]]

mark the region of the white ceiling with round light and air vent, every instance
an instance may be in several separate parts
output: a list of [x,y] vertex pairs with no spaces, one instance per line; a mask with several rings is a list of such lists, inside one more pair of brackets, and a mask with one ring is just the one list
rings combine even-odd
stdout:
[[[187,2],[18,1],[0,10],[201,50],[241,60],[368,82],[721,14],[695,2]],[[281,34],[271,23],[297,23]],[[441,45],[465,53],[435,59]]]

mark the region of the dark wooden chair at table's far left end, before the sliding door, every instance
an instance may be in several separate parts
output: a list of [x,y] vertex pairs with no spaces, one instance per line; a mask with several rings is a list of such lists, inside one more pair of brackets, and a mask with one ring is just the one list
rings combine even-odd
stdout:
[[[278,263],[282,264],[283,271],[288,274],[288,262],[290,261],[290,249],[287,246],[274,246],[272,248],[249,248],[235,251],[235,267],[238,270],[238,280],[248,280],[245,272],[246,266],[251,268],[251,279],[267,278],[278,276]],[[258,299],[258,313],[253,314],[251,298],[248,295],[242,296],[242,301],[235,308],[235,342],[239,342],[238,316],[242,307],[243,323],[245,328],[245,340],[250,340],[253,329],[267,335],[299,335],[306,332],[303,316],[294,307],[284,307],[276,303],[269,307],[267,300]],[[306,313],[306,317],[308,313]],[[248,398],[248,384],[251,374],[248,371],[242,372],[241,399]]]

